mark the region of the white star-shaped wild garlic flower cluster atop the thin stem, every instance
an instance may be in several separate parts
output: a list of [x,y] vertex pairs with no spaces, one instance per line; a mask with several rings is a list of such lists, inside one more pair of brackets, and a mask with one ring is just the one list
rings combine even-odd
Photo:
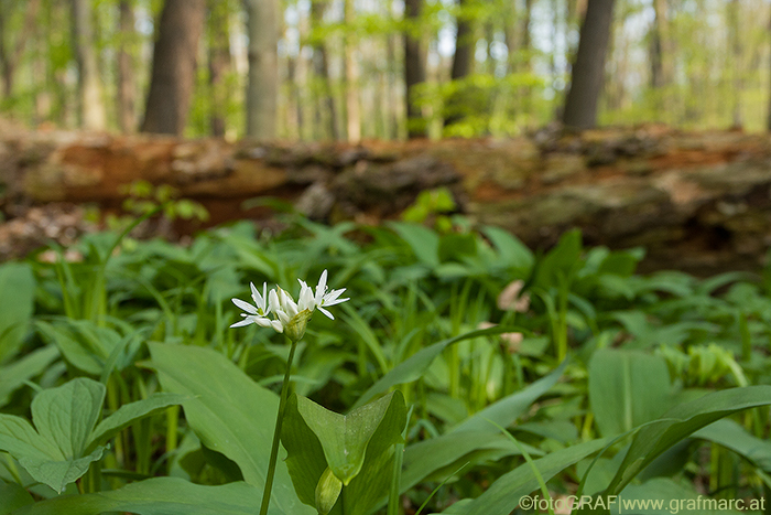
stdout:
[[[256,307],[242,300],[232,299],[232,302],[246,311],[246,313],[241,313],[245,320],[236,322],[230,326],[240,328],[249,325],[250,323],[256,323],[262,328],[273,328],[276,332],[285,333],[291,340],[297,341],[305,333],[305,325],[307,321],[311,320],[314,310],[318,309],[318,311],[326,316],[335,320],[335,316],[333,316],[325,307],[328,308],[349,300],[348,298],[339,298],[343,292],[346,291],[345,288],[327,292],[326,270],[322,272],[322,277],[318,279],[315,293],[304,280],[297,280],[300,281],[297,302],[281,287],[276,287],[268,292],[268,286],[263,285],[261,296],[260,292],[257,291],[257,288],[254,288],[254,285],[250,283]],[[268,314],[271,312],[274,315],[273,320],[268,318]]]

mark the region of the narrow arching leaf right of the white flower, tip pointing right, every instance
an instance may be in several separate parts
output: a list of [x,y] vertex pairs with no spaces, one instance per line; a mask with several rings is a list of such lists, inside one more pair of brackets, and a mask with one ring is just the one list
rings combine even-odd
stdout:
[[496,334],[507,333],[517,331],[514,328],[490,328],[477,331],[469,331],[468,333],[461,334],[459,336],[454,336],[441,342],[434,343],[425,348],[421,348],[412,356],[408,357],[399,365],[394,366],[388,374],[378,379],[372,386],[363,393],[359,400],[354,404],[354,409],[363,406],[365,404],[372,400],[380,394],[386,393],[392,386],[401,385],[404,383],[410,383],[419,379],[425,371],[428,369],[432,362],[442,354],[447,346],[460,342],[463,340],[469,340],[479,336],[491,336]]

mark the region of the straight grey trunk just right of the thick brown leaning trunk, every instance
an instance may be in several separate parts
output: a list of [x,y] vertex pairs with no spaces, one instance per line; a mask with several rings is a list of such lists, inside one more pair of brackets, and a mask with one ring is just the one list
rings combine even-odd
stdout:
[[245,0],[249,35],[247,136],[276,136],[279,101],[279,6],[276,0]]

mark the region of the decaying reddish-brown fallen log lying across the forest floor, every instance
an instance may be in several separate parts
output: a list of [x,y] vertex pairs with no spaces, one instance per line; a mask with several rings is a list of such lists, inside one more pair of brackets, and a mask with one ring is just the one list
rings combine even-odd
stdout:
[[242,210],[260,196],[293,202],[315,219],[371,223],[446,186],[474,222],[531,247],[579,227],[590,245],[644,246],[645,269],[758,270],[771,246],[765,135],[547,128],[506,140],[348,146],[0,128],[9,218],[51,202],[116,210],[138,180],[176,187],[209,211],[210,224],[271,216]]

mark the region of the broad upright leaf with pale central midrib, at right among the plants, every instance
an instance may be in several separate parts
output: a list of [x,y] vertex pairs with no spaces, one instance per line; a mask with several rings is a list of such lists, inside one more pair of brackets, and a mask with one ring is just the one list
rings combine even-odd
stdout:
[[604,437],[655,419],[670,399],[670,373],[661,356],[613,348],[591,356],[589,406]]

